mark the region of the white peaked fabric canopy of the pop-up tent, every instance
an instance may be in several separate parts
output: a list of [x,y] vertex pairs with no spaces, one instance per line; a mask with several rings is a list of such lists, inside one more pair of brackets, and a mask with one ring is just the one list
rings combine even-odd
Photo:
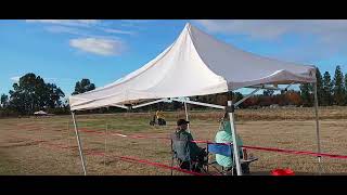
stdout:
[[157,57],[113,83],[69,96],[69,104],[72,110],[92,109],[293,82],[316,82],[316,67],[242,51],[187,24]]

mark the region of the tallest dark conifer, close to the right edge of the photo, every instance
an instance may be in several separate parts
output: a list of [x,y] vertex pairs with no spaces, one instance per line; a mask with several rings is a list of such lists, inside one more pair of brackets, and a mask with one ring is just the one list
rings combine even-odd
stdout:
[[334,88],[333,88],[334,102],[336,105],[344,105],[345,104],[344,75],[339,66],[336,66],[333,83],[334,83]]

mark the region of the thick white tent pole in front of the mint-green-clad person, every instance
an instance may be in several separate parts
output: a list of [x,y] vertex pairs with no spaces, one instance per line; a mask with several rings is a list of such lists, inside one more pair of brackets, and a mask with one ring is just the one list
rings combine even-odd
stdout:
[[228,113],[229,113],[229,119],[230,119],[230,128],[232,132],[232,145],[233,145],[233,155],[234,155],[234,160],[236,164],[236,172],[237,176],[242,176],[242,170],[241,170],[241,164],[240,164],[240,154],[239,154],[239,146],[236,142],[236,128],[235,128],[235,122],[234,122],[234,106],[232,105],[232,101],[228,101]]

